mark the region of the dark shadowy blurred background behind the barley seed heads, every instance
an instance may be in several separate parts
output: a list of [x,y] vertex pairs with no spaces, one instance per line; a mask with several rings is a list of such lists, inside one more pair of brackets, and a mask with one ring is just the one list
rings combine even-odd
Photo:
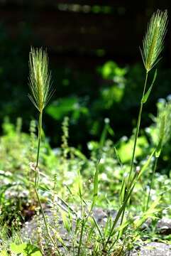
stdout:
[[[28,131],[29,122],[36,117],[27,97],[28,53],[31,46],[43,47],[48,50],[55,88],[44,118],[51,144],[60,144],[66,115],[70,117],[70,144],[83,149],[90,139],[100,138],[106,117],[115,141],[129,136],[145,75],[139,46],[151,14],[167,9],[170,18],[170,6],[168,0],[0,0],[0,121],[9,116],[16,122],[16,117],[22,117],[23,129]],[[149,111],[155,114],[158,99],[170,94],[170,35],[169,22],[158,80],[143,112],[143,127],[152,122]],[[103,73],[106,62],[108,75]],[[115,100],[115,94],[114,99],[109,97],[113,87],[122,90],[120,100]]]

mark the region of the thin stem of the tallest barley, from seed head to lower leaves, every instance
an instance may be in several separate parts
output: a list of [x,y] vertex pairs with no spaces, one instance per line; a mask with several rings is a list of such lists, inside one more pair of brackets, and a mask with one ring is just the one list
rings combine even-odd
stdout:
[[[144,88],[143,88],[143,97],[145,95],[147,80],[148,80],[148,72],[146,72],[146,75],[145,75],[145,83],[144,83]],[[143,97],[142,97],[142,99],[143,99]],[[133,144],[133,155],[132,155],[132,159],[131,159],[131,169],[130,169],[129,176],[128,176],[128,186],[130,186],[130,178],[131,178],[131,174],[132,174],[132,171],[133,171],[133,162],[134,162],[134,159],[135,159],[136,144],[137,144],[138,134],[139,134],[139,131],[140,131],[140,120],[141,120],[142,110],[143,110],[143,102],[141,101],[140,102],[140,110],[139,110],[139,114],[138,114],[138,121],[137,121],[137,125],[136,125],[136,135],[135,135],[134,144]]]

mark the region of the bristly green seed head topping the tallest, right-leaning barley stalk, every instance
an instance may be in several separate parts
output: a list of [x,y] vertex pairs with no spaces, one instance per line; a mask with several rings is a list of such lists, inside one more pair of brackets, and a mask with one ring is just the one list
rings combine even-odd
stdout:
[[140,53],[148,73],[160,60],[159,55],[163,49],[165,33],[167,30],[167,11],[158,10],[150,18],[148,31],[143,39],[143,50]]

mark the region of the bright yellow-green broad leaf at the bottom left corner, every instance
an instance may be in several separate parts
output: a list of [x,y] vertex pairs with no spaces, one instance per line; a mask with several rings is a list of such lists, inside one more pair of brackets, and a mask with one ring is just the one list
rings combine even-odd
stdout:
[[16,255],[22,256],[42,256],[42,253],[35,245],[22,243],[21,245],[16,245],[15,243],[11,244],[11,252],[14,252]]

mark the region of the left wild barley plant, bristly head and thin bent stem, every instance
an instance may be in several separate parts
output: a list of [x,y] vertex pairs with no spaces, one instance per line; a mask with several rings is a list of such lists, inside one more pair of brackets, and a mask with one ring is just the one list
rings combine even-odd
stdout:
[[40,156],[40,142],[41,142],[41,131],[42,131],[42,117],[43,117],[43,110],[45,106],[48,104],[50,97],[53,94],[51,90],[51,74],[48,70],[48,55],[46,51],[42,49],[34,49],[31,48],[31,53],[29,56],[29,68],[30,68],[30,75],[29,75],[29,87],[31,89],[31,94],[28,95],[33,105],[39,112],[39,119],[38,119],[38,148],[37,148],[37,157],[35,163],[35,182],[34,182],[34,190],[35,195],[38,199],[38,203],[40,206],[41,213],[43,215],[43,221],[45,223],[45,229],[48,235],[48,238],[53,243],[53,246],[56,248],[58,255],[60,252],[58,251],[57,245],[55,240],[50,235],[50,230],[48,227],[48,223],[45,218],[45,213],[43,207],[40,202],[40,197],[38,195],[38,184],[39,184],[39,156]]

